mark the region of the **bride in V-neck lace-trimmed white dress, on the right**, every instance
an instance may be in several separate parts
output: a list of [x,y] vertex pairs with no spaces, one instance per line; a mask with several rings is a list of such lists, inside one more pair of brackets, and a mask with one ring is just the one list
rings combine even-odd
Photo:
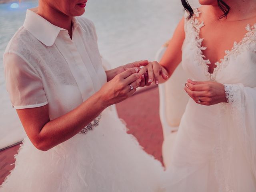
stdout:
[[255,192],[256,3],[199,2],[203,6],[192,9],[182,0],[187,11],[160,61],[169,75],[182,61],[190,76],[184,86],[190,100],[163,187]]

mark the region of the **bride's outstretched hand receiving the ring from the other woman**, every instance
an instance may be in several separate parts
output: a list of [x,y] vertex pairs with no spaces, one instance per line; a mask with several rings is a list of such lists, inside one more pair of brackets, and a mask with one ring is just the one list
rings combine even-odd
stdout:
[[156,61],[141,68],[139,76],[142,78],[140,86],[149,86],[152,82],[159,84],[161,76],[164,80],[169,78],[167,70]]

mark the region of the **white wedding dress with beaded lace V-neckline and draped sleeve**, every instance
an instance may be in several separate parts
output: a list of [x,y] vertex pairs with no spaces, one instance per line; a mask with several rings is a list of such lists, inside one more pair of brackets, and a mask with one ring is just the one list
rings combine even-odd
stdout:
[[228,103],[203,106],[190,98],[163,187],[168,192],[255,192],[256,24],[245,26],[244,38],[210,74],[199,14],[195,9],[185,20],[182,66],[192,80],[224,84]]

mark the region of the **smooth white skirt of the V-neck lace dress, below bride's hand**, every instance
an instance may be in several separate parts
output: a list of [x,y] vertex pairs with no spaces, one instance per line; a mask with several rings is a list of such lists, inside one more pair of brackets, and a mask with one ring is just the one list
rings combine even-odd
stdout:
[[229,105],[203,106],[190,99],[164,173],[164,190],[255,192],[256,178],[234,127]]

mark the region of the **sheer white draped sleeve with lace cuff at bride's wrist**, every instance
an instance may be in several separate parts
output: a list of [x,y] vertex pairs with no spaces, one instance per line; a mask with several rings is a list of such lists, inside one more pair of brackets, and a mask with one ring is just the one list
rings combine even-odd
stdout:
[[231,105],[236,142],[242,147],[256,178],[256,88],[243,84],[224,84],[224,88]]

